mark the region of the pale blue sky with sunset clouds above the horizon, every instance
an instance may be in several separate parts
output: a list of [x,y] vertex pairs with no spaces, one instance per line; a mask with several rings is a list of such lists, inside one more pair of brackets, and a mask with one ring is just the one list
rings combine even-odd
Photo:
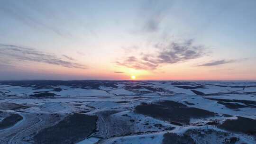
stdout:
[[0,0],[0,80],[256,80],[255,7]]

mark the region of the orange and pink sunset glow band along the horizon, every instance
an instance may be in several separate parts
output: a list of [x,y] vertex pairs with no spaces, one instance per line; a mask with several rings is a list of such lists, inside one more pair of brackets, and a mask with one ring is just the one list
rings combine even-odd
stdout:
[[[31,67],[33,65],[33,67]],[[29,79],[37,79],[35,75],[41,75],[38,79],[54,80],[173,80],[173,81],[221,81],[221,80],[256,80],[255,74],[246,73],[247,69],[224,69],[202,68],[202,67],[185,67],[180,65],[170,65],[161,67],[157,70],[137,70],[124,67],[108,68],[88,68],[74,69],[62,66],[53,66],[45,63],[25,63],[22,64],[19,73],[30,74]],[[118,72],[118,73],[117,73]],[[230,74],[232,72],[232,74]],[[25,74],[24,74],[25,75]],[[33,77],[32,77],[33,76]]]

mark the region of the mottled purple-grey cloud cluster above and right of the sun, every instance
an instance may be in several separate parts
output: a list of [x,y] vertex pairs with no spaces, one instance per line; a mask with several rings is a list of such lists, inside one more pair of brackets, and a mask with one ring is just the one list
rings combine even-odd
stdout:
[[205,47],[193,45],[193,40],[186,40],[182,43],[171,42],[155,45],[158,51],[154,54],[141,54],[125,57],[123,61],[116,62],[117,65],[141,70],[154,70],[163,64],[184,62],[204,56]]

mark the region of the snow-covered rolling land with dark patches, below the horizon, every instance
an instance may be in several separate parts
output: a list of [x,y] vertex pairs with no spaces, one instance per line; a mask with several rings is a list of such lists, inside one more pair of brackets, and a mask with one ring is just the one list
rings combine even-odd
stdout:
[[[83,116],[97,120],[73,123]],[[95,127],[82,129],[89,122]],[[52,135],[58,128],[61,134]],[[50,134],[51,142],[42,140]],[[0,81],[0,144],[62,144],[60,140],[256,144],[256,82]]]

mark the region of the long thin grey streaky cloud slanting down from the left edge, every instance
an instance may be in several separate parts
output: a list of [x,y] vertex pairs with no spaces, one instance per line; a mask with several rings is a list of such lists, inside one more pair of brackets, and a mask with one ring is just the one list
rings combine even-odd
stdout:
[[86,69],[85,65],[62,60],[55,54],[46,54],[33,48],[27,48],[17,45],[0,44],[0,62],[8,61],[9,63],[38,62],[53,65],[60,65],[68,68]]

